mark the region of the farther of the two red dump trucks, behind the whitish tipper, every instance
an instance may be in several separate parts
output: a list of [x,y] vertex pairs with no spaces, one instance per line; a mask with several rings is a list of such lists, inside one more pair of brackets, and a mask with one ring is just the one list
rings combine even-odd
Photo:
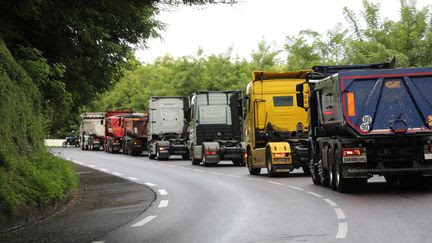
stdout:
[[108,110],[105,114],[105,152],[118,153],[122,149],[124,136],[124,117],[132,114],[131,110]]

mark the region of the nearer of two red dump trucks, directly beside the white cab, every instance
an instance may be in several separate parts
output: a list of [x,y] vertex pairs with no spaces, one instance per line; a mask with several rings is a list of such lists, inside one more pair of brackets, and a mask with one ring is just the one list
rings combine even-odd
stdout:
[[140,155],[147,150],[147,113],[133,113],[126,115],[123,125],[123,154]]

